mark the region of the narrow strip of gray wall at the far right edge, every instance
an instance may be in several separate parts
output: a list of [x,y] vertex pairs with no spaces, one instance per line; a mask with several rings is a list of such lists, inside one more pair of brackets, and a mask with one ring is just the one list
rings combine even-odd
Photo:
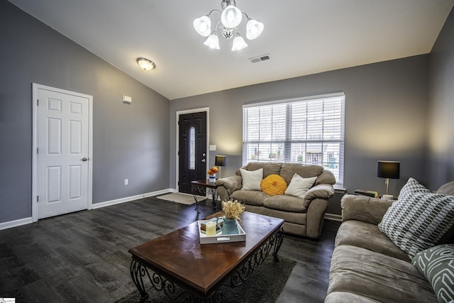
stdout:
[[429,79],[428,174],[436,189],[454,180],[454,9],[433,46]]

